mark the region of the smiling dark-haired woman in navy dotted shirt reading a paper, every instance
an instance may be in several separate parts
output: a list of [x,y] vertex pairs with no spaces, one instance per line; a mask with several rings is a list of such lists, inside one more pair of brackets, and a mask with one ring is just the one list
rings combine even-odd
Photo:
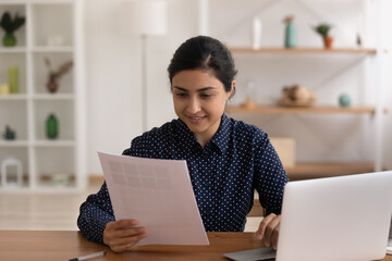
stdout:
[[[267,216],[256,237],[277,248],[283,187],[287,176],[268,135],[228,117],[236,70],[230,51],[210,37],[188,39],[168,67],[179,116],[132,140],[123,154],[186,160],[208,232],[242,232],[257,189]],[[88,239],[113,251],[132,249],[148,235],[136,220],[115,221],[106,184],[81,206],[77,221]]]

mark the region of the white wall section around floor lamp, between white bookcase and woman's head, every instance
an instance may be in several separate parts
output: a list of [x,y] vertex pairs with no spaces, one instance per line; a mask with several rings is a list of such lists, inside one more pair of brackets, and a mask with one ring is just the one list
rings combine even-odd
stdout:
[[[100,174],[97,151],[121,153],[142,134],[140,39],[121,24],[122,0],[86,0],[87,172]],[[174,117],[167,66],[197,34],[197,1],[168,0],[168,34],[147,40],[148,127]]]

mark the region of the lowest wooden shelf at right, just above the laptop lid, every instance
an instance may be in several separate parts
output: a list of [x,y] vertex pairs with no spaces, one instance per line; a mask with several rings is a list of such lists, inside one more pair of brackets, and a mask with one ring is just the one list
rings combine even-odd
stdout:
[[294,167],[285,167],[285,171],[289,177],[295,181],[369,173],[375,171],[375,164],[371,162],[297,163]]

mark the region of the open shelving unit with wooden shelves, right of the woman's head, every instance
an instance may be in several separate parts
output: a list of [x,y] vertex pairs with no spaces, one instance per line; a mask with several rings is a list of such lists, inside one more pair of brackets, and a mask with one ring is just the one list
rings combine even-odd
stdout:
[[[201,24],[200,32],[226,42],[238,69],[240,98],[233,99],[228,114],[258,125],[272,136],[290,136],[298,141],[299,159],[294,167],[286,167],[289,176],[296,179],[382,170],[382,121],[387,111],[378,71],[382,54],[377,45],[378,1],[248,0],[241,7],[235,1],[199,3],[200,18],[209,20],[208,25]],[[222,4],[228,16],[241,8],[234,22],[222,15],[217,18],[215,12]],[[282,48],[282,18],[287,14],[298,17],[302,41],[294,49]],[[261,48],[257,50],[249,42],[254,16],[264,24]],[[331,50],[322,48],[319,36],[310,28],[326,21],[338,32],[339,40]],[[363,37],[362,47],[355,41],[357,33]],[[255,110],[238,105],[249,80],[258,85],[254,99],[259,107]],[[319,98],[317,105],[275,105],[283,86],[292,84],[314,89]],[[346,90],[355,102],[340,108],[338,97]]]

